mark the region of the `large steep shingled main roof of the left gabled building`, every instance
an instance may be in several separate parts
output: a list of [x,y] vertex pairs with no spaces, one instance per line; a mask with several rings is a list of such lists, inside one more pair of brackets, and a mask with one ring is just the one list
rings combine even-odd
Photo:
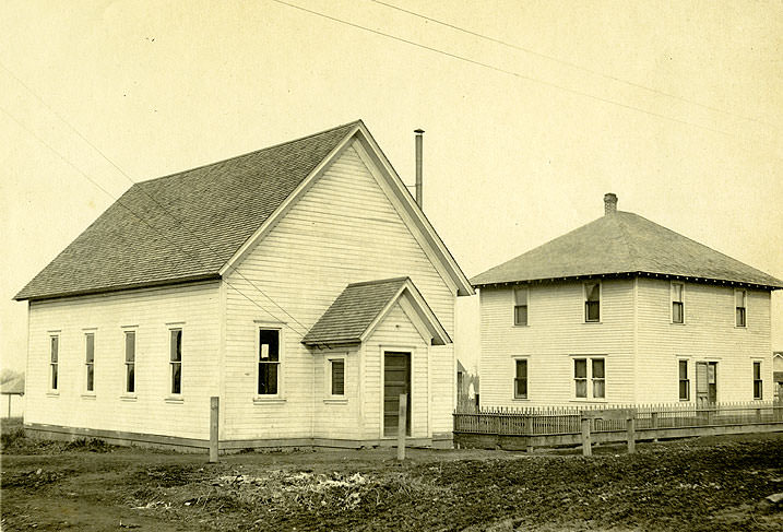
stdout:
[[[220,279],[241,250],[258,241],[259,228],[282,215],[282,205],[289,204],[354,135],[368,143],[377,159],[385,161],[357,120],[135,184],[14,299]],[[391,179],[402,187],[396,174]],[[432,249],[442,248],[436,260],[446,264],[447,274],[462,293],[472,293],[464,273],[418,206],[407,208],[418,210],[417,221],[424,233],[431,234]]]

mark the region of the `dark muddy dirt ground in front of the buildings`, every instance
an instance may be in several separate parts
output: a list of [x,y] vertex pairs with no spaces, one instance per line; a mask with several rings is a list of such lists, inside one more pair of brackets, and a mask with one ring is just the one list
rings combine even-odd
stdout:
[[3,425],[2,530],[783,530],[783,434],[524,452],[204,454]]

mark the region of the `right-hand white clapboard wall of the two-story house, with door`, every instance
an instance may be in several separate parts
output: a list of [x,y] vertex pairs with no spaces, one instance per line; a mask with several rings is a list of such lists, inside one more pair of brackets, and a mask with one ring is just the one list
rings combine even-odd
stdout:
[[737,328],[733,287],[685,283],[685,323],[672,323],[669,281],[640,279],[639,401],[678,401],[678,359],[689,362],[691,400],[699,360],[717,362],[719,401],[751,401],[752,360],[762,360],[763,399],[772,399],[770,293],[747,294],[747,327]]

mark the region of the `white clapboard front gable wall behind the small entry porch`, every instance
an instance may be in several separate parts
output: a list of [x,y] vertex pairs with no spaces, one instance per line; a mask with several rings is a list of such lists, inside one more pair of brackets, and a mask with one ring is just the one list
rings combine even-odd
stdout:
[[[401,275],[412,279],[453,338],[455,295],[349,145],[226,279],[225,437],[310,437],[313,416],[353,415],[351,406],[320,404],[322,355],[301,338],[347,284]],[[282,401],[253,402],[259,320],[284,323]],[[439,351],[442,363],[431,378],[447,406],[437,424],[450,430],[453,347]]]

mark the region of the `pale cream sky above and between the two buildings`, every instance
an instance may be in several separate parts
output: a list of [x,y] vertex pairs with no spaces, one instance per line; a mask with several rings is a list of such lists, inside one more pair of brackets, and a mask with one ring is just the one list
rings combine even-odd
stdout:
[[[12,297],[132,181],[361,118],[473,276],[603,196],[783,279],[775,1],[0,5],[0,365]],[[396,8],[396,9],[395,9]],[[773,295],[783,351],[783,295]],[[477,359],[477,297],[456,348]]]

